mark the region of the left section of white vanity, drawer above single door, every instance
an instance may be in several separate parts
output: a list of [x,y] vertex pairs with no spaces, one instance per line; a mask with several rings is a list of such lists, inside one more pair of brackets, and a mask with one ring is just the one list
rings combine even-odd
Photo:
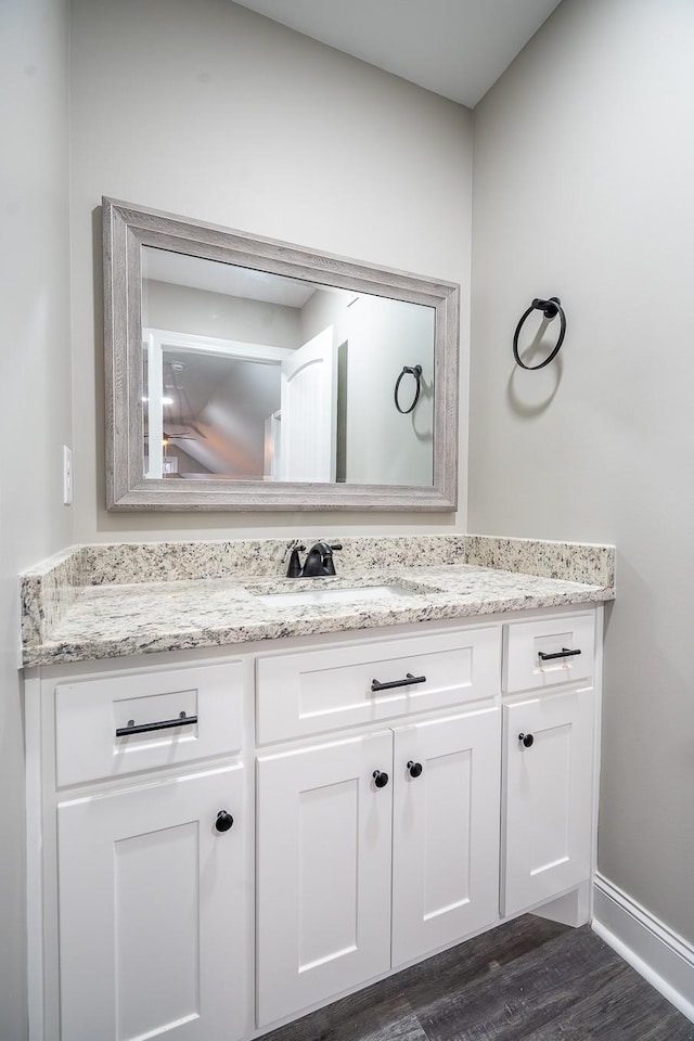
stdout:
[[44,901],[31,1041],[247,1032],[250,696],[241,659],[29,680]]

